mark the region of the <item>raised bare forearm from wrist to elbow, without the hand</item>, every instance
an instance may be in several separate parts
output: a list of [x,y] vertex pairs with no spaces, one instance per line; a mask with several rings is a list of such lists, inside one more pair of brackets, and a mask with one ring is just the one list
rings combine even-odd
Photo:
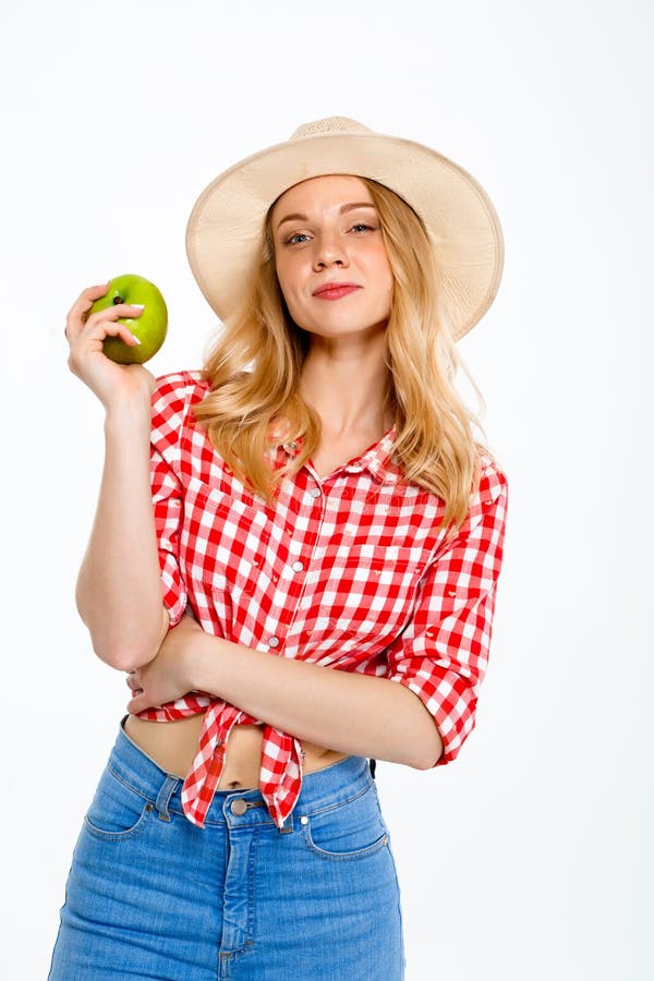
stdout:
[[102,661],[132,670],[168,629],[149,477],[150,405],[144,396],[107,412],[105,468],[76,602]]

